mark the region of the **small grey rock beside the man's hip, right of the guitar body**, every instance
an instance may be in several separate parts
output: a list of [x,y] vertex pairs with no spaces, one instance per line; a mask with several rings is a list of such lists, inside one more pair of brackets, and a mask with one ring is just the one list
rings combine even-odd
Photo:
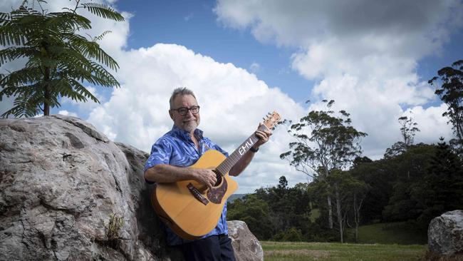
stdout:
[[227,224],[236,261],[264,260],[264,250],[245,222],[232,220]]

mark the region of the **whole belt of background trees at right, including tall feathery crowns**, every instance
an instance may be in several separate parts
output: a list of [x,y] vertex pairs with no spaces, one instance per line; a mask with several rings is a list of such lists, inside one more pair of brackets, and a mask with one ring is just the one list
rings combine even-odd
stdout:
[[380,160],[362,156],[367,135],[351,126],[350,114],[310,111],[297,123],[286,121],[296,141],[281,153],[293,168],[311,178],[288,188],[281,176],[272,188],[260,188],[229,204],[229,218],[244,220],[262,240],[345,241],[351,227],[405,221],[425,233],[432,218],[463,208],[463,60],[442,68],[429,83],[447,104],[454,137],[449,143],[414,144],[418,123],[397,119],[401,140]]

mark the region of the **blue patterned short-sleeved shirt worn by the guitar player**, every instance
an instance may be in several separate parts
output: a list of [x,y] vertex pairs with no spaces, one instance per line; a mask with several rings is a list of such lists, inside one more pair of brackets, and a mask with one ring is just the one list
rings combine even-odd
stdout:
[[[228,153],[225,150],[222,150],[222,148],[209,140],[209,138],[203,137],[202,131],[199,129],[194,131],[194,136],[198,140],[199,150],[196,145],[194,145],[193,140],[187,131],[183,131],[177,126],[173,126],[171,131],[165,133],[165,135],[159,138],[156,143],[152,145],[151,155],[145,163],[143,172],[145,172],[148,168],[159,164],[188,167],[196,163],[197,160],[199,160],[199,157],[201,157],[201,155],[209,149],[219,150],[219,152],[228,157]],[[151,183],[148,180],[146,180],[146,182]],[[180,245],[191,242],[179,237],[169,227],[165,227],[165,230],[167,245]],[[220,217],[217,226],[214,230],[209,232],[207,235],[204,235],[202,238],[221,234],[228,235],[227,203],[224,205],[224,210],[222,210],[222,216]]]

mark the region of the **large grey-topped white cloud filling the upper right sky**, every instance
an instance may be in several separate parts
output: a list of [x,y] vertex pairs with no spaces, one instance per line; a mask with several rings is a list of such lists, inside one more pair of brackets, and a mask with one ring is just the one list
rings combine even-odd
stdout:
[[422,108],[436,97],[416,70],[462,27],[461,1],[219,0],[214,12],[224,26],[249,29],[259,41],[297,47],[291,68],[317,81],[311,100],[334,99],[351,113],[369,134],[366,155],[380,158],[400,139],[397,118],[407,108],[422,129],[415,140],[449,137],[439,115],[444,106]]

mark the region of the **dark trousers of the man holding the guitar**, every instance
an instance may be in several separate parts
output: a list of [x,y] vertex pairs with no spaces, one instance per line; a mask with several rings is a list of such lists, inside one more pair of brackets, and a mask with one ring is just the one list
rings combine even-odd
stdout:
[[228,235],[212,235],[180,245],[185,261],[235,261]]

